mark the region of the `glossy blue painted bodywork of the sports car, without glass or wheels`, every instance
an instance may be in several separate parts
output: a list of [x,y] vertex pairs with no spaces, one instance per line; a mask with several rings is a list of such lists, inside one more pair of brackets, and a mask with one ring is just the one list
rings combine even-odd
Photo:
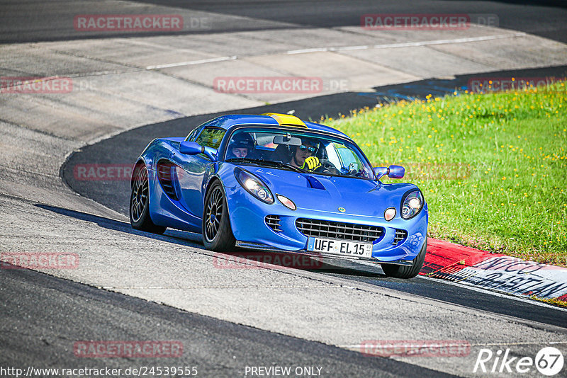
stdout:
[[[205,122],[196,128],[194,134],[197,135],[204,127],[227,130],[218,147],[218,157],[222,160],[230,134],[244,125],[281,128],[274,118],[266,115],[225,115]],[[306,131],[352,142],[347,135],[331,127],[313,122],[305,122],[305,125],[308,127]],[[420,253],[427,239],[427,203],[415,217],[400,217],[403,196],[418,190],[413,184],[384,184],[378,180],[211,161],[204,154],[181,154],[179,144],[184,140],[186,138],[155,139],[136,163],[147,167],[150,217],[157,225],[200,233],[206,191],[213,181],[218,180],[225,190],[232,233],[238,246],[313,254],[306,250],[308,236],[296,226],[298,218],[383,227],[382,236],[373,244],[372,258],[375,262],[408,265]],[[274,196],[283,195],[291,199],[297,209],[290,210],[278,200],[272,204],[258,200],[238,183],[235,177],[237,167],[260,178]],[[165,175],[161,181],[159,174]],[[384,219],[384,211],[388,207],[396,209],[394,219],[389,222]],[[267,215],[279,216],[282,231],[276,232],[268,227]],[[394,241],[396,230],[406,231],[403,241]]]

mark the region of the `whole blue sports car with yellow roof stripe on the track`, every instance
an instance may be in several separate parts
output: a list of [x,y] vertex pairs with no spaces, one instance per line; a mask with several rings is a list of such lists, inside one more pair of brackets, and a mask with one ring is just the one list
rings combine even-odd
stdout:
[[224,115],[186,138],[153,140],[133,168],[130,223],[198,232],[232,248],[379,263],[415,277],[427,247],[417,186],[381,183],[404,168],[372,168],[347,135],[293,115]]

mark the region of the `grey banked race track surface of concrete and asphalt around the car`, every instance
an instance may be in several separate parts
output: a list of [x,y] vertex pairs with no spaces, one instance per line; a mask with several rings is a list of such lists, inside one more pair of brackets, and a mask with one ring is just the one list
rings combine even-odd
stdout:
[[[0,0],[0,55],[4,55],[0,76],[56,74],[69,75],[77,83],[85,78],[96,83],[87,85],[78,100],[25,97],[20,101],[0,94],[0,130],[5,135],[0,141],[4,161],[0,163],[0,252],[68,251],[81,258],[79,269],[59,271],[2,265],[0,377],[15,376],[2,370],[6,367],[167,365],[197,367],[199,377],[265,376],[247,369],[271,366],[315,369],[313,374],[290,377],[481,377],[487,374],[472,372],[481,348],[510,348],[514,356],[534,357],[544,346],[555,345],[567,357],[566,309],[425,277],[391,279],[379,268],[332,261],[313,270],[277,265],[215,269],[218,260],[230,259],[230,253],[219,256],[204,250],[196,234],[168,230],[157,236],[130,227],[128,181],[84,181],[74,172],[81,164],[132,164],[155,137],[185,136],[193,127],[225,113],[293,110],[300,118],[318,120],[321,115],[335,117],[377,103],[430,93],[443,96],[465,88],[480,72],[565,77],[567,50],[556,42],[567,42],[566,7],[565,1]],[[73,17],[90,13],[182,13],[214,22],[175,35],[74,30]],[[431,62],[423,62],[425,68],[420,67],[423,71],[417,74],[412,72],[417,55],[408,55],[411,59],[400,55],[403,69],[395,71],[388,62],[383,71],[376,71],[381,85],[360,85],[369,77],[361,71],[353,74],[349,91],[302,98],[211,94],[210,85],[199,76],[228,66],[210,67],[206,74],[166,67],[171,63],[167,59],[180,61],[176,52],[167,50],[178,45],[179,56],[191,56],[186,59],[189,63],[181,60],[183,64],[208,64],[210,58],[217,59],[208,46],[215,40],[226,50],[220,55],[238,55],[227,64],[242,64],[249,74],[254,71],[245,64],[254,62],[258,64],[254,69],[261,66],[271,75],[269,66],[277,65],[283,51],[333,46],[337,36],[349,41],[344,45],[368,38],[356,30],[364,13],[497,15],[498,29],[467,30],[458,37],[470,41],[440,47],[439,54],[466,55],[478,35],[481,39],[488,35],[487,43],[493,38],[495,43],[509,40],[512,45],[505,52],[502,45],[495,45],[499,47],[494,50],[503,55],[494,64],[486,64],[482,54],[468,60],[466,74],[453,61],[439,63],[435,74],[426,71],[434,71],[437,62],[430,66]],[[424,40],[444,38],[410,33],[391,37],[385,34],[380,37],[383,40],[368,43],[404,43],[407,38],[419,50]],[[181,46],[179,38],[197,41],[195,46],[202,50]],[[238,38],[265,50],[254,55],[255,47],[239,45]],[[86,41],[92,45],[84,52],[81,45]],[[131,60],[120,55],[124,44],[140,49],[127,57]],[[108,49],[106,55],[100,54],[99,47]],[[147,58],[145,48],[163,49],[159,50],[163,56]],[[483,48],[490,51],[490,46]],[[541,52],[534,64],[529,61],[532,52]],[[408,50],[408,54],[414,52]],[[239,60],[241,55],[244,58]],[[276,59],[269,60],[271,55]],[[116,64],[116,57],[127,62]],[[445,67],[454,71],[438,74]],[[163,76],[151,76],[158,74]],[[363,79],[357,81],[357,75]],[[136,87],[140,81],[141,89]],[[191,96],[175,98],[181,86]],[[121,92],[128,93],[125,100]],[[74,345],[79,340],[177,340],[183,354],[176,358],[77,357]],[[471,351],[460,358],[380,357],[360,353],[364,340],[467,340]],[[131,375],[137,374],[122,376]],[[525,376],[541,374],[534,368]]]

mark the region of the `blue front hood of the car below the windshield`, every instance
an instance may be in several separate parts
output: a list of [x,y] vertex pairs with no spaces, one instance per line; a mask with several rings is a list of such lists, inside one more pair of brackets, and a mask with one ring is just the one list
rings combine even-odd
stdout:
[[405,193],[417,189],[409,183],[383,184],[361,178],[323,176],[279,169],[242,166],[262,178],[274,195],[284,195],[298,209],[383,217],[384,210],[399,211]]

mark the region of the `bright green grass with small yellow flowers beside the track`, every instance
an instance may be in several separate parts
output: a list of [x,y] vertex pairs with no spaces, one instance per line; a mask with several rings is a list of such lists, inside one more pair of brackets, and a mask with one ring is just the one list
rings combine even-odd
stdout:
[[428,96],[325,123],[374,166],[405,166],[429,205],[430,236],[567,267],[566,82]]

